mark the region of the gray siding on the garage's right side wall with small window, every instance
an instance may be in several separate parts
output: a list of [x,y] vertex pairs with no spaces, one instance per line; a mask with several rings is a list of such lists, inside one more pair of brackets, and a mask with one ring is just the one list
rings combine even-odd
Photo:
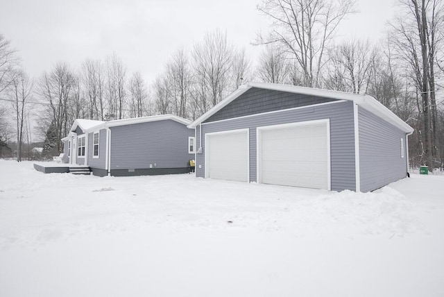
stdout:
[[[361,192],[373,191],[405,178],[405,133],[364,108],[358,110]],[[401,158],[401,138],[404,139],[404,158]]]

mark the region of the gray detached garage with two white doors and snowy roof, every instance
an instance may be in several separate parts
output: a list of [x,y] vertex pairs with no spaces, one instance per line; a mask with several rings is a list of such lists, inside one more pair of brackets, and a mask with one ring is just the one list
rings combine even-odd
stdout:
[[195,128],[196,176],[368,192],[407,176],[413,128],[372,96],[247,83]]

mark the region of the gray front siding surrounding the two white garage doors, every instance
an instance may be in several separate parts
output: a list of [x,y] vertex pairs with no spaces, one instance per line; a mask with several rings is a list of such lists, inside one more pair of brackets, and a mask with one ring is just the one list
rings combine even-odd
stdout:
[[[331,188],[355,190],[355,130],[353,103],[338,102],[282,110],[251,117],[216,121],[202,125],[202,153],[196,154],[196,176],[205,177],[205,133],[249,128],[250,131],[250,182],[257,181],[256,128],[261,126],[330,119]],[[196,136],[199,138],[199,128]],[[197,140],[200,145],[200,140]],[[199,166],[201,168],[199,168]],[[230,164],[227,164],[230,166]]]

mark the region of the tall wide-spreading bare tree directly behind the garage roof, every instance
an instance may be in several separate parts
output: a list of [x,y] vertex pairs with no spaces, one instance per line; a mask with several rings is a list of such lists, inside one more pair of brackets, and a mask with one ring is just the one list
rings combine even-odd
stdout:
[[318,87],[325,53],[345,16],[354,12],[353,0],[264,0],[257,9],[271,19],[268,37],[260,44],[276,44],[296,60],[306,87]]

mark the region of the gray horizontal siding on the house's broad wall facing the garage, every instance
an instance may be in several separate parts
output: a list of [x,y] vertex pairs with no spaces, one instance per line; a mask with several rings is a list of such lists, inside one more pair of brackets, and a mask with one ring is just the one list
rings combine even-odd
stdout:
[[183,168],[194,130],[173,120],[111,127],[111,169]]

